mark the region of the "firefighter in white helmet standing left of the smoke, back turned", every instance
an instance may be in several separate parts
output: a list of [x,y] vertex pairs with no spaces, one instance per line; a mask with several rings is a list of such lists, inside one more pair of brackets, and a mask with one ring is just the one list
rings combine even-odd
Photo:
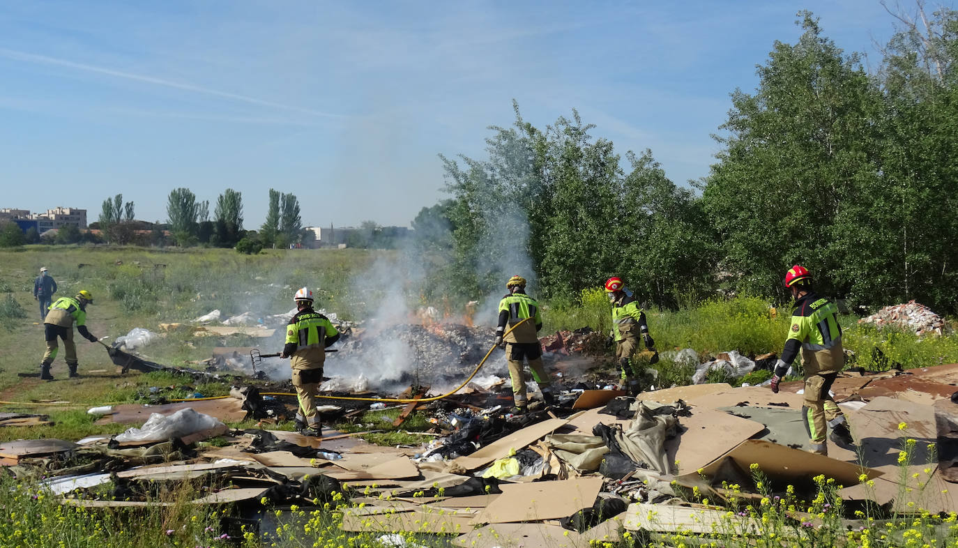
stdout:
[[312,291],[303,287],[296,291],[294,300],[297,312],[286,326],[286,344],[280,356],[289,358],[299,400],[296,429],[307,436],[321,436],[323,425],[316,410],[316,395],[323,382],[326,349],[339,340],[339,331],[329,318],[312,309]]

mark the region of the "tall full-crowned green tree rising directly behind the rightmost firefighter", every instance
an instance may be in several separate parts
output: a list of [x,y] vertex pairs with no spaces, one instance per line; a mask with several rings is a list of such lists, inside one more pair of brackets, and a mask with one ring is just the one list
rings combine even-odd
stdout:
[[[821,273],[843,266],[861,228],[845,208],[879,173],[875,121],[880,96],[855,55],[846,57],[809,12],[798,43],[775,42],[752,95],[737,90],[704,189],[737,288],[784,296],[783,272],[802,263]],[[830,279],[831,278],[831,279]],[[827,291],[851,289],[819,277]]]

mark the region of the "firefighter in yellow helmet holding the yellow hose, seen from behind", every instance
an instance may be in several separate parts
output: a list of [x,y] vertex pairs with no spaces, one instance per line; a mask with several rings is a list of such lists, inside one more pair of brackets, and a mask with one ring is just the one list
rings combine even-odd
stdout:
[[[542,391],[542,400],[546,405],[556,403],[552,393],[552,382],[545,372],[542,363],[542,346],[539,344],[536,332],[542,329],[542,312],[539,310],[536,299],[526,294],[526,279],[513,276],[506,283],[509,294],[499,301],[499,324],[495,328],[495,344],[506,343],[506,359],[509,360],[509,377],[513,381],[513,413],[525,413],[526,379],[522,373],[522,361],[529,362],[529,370]],[[508,328],[512,328],[520,321],[522,325],[503,336]]]

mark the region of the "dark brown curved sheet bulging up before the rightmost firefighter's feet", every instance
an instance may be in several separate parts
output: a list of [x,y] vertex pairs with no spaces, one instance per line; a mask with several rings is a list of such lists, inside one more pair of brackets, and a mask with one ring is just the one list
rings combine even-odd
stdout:
[[[741,470],[746,471],[752,464],[757,464],[770,480],[789,484],[808,483],[810,478],[825,474],[827,478],[834,478],[839,485],[853,486],[858,484],[860,474],[865,474],[872,479],[882,473],[874,468],[862,468],[852,463],[801,449],[792,449],[785,445],[772,444],[764,440],[746,440],[719,460],[702,468],[702,474],[713,477],[722,467],[725,459],[731,459]],[[685,474],[685,477],[696,479],[697,474],[692,472]]]

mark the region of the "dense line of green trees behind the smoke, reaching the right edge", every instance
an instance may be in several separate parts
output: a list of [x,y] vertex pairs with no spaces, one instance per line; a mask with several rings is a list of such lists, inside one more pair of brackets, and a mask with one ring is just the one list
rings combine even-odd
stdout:
[[785,300],[800,263],[860,305],[958,310],[958,11],[895,13],[869,72],[801,12],[753,93],[735,90],[707,176],[677,186],[650,149],[625,158],[573,110],[539,128],[514,105],[488,156],[442,157],[450,198],[423,208],[418,245],[464,296],[524,261],[550,297],[625,276],[672,307],[716,291]]

